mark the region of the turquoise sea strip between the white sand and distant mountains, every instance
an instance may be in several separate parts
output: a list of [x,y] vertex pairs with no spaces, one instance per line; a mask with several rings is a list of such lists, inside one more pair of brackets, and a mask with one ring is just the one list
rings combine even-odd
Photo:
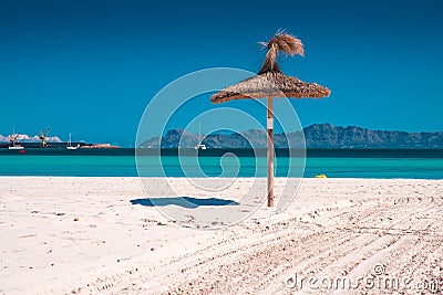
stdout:
[[[226,152],[237,157],[220,157]],[[163,154],[163,152],[162,152]],[[280,154],[280,155],[279,155]],[[290,165],[300,171],[302,159],[277,152],[276,176],[288,173]],[[164,152],[161,158],[144,155],[143,176],[190,177],[225,176],[265,177],[266,157],[254,157],[247,150],[218,150],[200,152],[193,157],[178,158],[176,151]],[[158,167],[156,164],[162,164]],[[181,165],[182,164],[182,165]],[[419,178],[443,179],[443,151],[420,150],[308,150],[303,176],[327,175],[338,178]],[[297,175],[297,173],[296,173]],[[89,176],[136,177],[136,160],[133,149],[119,150],[0,150],[0,176]]]

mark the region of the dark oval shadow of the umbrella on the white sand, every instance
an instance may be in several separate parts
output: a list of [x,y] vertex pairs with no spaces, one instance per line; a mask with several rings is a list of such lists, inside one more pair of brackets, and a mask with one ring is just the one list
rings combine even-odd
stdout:
[[233,200],[208,198],[197,199],[192,197],[166,197],[166,198],[147,198],[147,199],[134,199],[131,200],[132,204],[141,204],[146,207],[163,207],[175,204],[178,207],[195,209],[204,206],[238,206],[239,203]]

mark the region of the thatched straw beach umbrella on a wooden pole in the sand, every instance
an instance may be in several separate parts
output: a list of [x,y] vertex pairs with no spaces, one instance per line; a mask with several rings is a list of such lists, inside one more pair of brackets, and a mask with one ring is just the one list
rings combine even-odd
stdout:
[[293,56],[303,55],[301,41],[286,33],[277,33],[269,42],[262,43],[268,48],[265,62],[257,76],[244,80],[228,86],[210,96],[215,104],[243,98],[268,98],[268,207],[274,206],[274,114],[272,98],[275,97],[327,97],[330,91],[316,83],[306,83],[297,77],[286,76],[277,64],[277,55],[281,51]]

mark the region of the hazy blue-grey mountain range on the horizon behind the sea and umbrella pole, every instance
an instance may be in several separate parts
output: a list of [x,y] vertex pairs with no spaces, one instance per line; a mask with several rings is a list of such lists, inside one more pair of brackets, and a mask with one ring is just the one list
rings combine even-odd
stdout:
[[[443,131],[406,133],[371,130],[357,126],[333,126],[315,124],[303,128],[307,148],[443,148]],[[250,129],[233,134],[210,134],[202,136],[208,148],[265,148],[266,130]],[[275,135],[275,147],[288,146],[300,148],[301,131]],[[172,129],[163,137],[153,137],[144,141],[142,148],[193,148],[197,145],[198,135]]]

